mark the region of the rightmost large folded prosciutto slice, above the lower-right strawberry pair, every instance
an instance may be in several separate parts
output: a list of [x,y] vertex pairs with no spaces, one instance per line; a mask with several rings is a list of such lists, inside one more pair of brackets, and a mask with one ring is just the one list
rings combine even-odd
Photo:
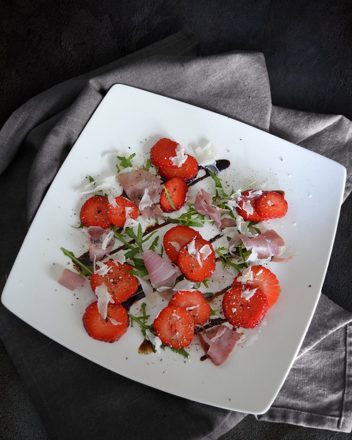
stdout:
[[263,234],[259,234],[256,237],[235,234],[228,246],[230,252],[234,246],[239,245],[241,242],[247,250],[254,250],[257,253],[258,259],[281,255],[286,249],[285,242],[273,229],[263,232]]

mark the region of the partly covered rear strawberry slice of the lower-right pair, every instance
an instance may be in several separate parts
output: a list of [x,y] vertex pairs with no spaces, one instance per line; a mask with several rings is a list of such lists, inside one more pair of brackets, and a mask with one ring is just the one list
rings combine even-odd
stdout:
[[[268,308],[271,308],[279,298],[280,286],[276,276],[264,266],[252,266],[253,280],[247,281],[251,289],[259,288],[268,299]],[[237,277],[234,279],[232,286],[239,283]]]

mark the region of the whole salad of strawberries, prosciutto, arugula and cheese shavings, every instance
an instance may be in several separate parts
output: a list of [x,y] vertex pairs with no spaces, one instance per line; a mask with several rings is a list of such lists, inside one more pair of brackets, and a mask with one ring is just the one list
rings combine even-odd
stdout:
[[[89,177],[84,193],[94,195],[81,208],[79,226],[89,250],[76,257],[62,248],[79,274],[65,269],[59,283],[74,290],[90,279],[97,297],[83,316],[90,337],[118,341],[137,324],[153,351],[169,347],[183,356],[198,337],[205,355],[220,365],[244,340],[243,329],[257,326],[279,298],[279,282],[264,264],[292,257],[280,257],[284,240],[263,227],[283,217],[288,205],[280,191],[250,189],[256,182],[227,190],[220,171],[229,162],[215,161],[211,144],[194,154],[198,160],[163,138],[140,168],[133,166],[135,154],[117,155],[122,194],[106,194],[109,184]],[[205,178],[213,181],[212,193],[201,188],[193,196],[190,188]],[[209,240],[202,236],[206,224],[217,231]],[[202,292],[219,266],[233,274],[232,284]],[[168,305],[150,322],[146,308],[159,295]],[[209,301],[220,296],[221,308],[214,310]],[[142,315],[133,315],[131,304],[142,298]]]

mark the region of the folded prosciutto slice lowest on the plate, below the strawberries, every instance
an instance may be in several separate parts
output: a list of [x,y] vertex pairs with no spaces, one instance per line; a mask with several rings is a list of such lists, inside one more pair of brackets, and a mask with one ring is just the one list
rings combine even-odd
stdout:
[[223,364],[238,342],[244,340],[243,334],[224,325],[203,330],[198,336],[205,354],[216,366]]

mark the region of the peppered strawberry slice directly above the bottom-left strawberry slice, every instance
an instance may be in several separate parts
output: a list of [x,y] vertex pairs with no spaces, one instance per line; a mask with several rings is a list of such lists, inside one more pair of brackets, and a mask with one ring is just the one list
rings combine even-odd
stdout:
[[106,261],[104,264],[109,266],[110,269],[106,275],[93,273],[91,277],[93,292],[104,283],[115,304],[132,297],[138,290],[138,279],[128,272],[128,270],[132,271],[131,266],[125,263],[120,264],[117,261]]

